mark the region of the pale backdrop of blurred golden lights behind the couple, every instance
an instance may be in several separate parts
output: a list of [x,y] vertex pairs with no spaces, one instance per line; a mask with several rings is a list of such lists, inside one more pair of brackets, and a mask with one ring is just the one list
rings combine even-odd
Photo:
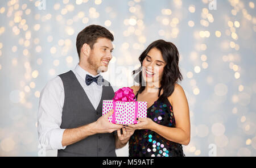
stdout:
[[[191,116],[186,156],[209,156],[209,144],[217,156],[256,156],[256,4],[215,2],[217,9],[208,0],[1,1],[0,156],[38,156],[40,91],[75,67],[76,36],[89,24],[114,34],[103,75],[117,87],[133,85],[131,71],[152,41],[177,46]],[[117,154],[127,156],[127,146]]]

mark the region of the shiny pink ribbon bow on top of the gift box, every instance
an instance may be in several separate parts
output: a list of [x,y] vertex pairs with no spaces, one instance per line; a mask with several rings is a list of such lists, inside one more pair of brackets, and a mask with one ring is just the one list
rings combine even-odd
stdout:
[[115,92],[115,96],[112,100],[120,102],[135,102],[136,98],[134,98],[133,89],[130,89],[130,87],[123,87]]

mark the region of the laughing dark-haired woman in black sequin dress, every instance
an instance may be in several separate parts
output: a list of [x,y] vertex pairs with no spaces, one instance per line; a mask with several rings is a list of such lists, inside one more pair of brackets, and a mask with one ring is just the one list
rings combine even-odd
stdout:
[[[190,141],[189,107],[179,70],[179,52],[174,44],[157,40],[139,57],[139,86],[132,86],[138,101],[147,102],[147,118],[126,125],[118,136],[129,156],[184,156],[182,145]],[[136,71],[133,72],[135,74]]]

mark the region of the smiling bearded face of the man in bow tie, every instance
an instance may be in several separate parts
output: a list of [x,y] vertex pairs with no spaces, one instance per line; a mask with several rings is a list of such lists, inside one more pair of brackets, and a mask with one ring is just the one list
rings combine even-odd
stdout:
[[90,68],[96,72],[106,72],[109,61],[112,59],[112,41],[106,38],[98,38],[88,57]]

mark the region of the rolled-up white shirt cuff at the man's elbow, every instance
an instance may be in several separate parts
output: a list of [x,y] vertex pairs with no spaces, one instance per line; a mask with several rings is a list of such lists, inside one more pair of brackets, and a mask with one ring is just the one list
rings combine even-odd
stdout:
[[51,138],[49,145],[54,149],[65,149],[66,146],[62,146],[62,137],[65,129],[53,129],[51,132]]

